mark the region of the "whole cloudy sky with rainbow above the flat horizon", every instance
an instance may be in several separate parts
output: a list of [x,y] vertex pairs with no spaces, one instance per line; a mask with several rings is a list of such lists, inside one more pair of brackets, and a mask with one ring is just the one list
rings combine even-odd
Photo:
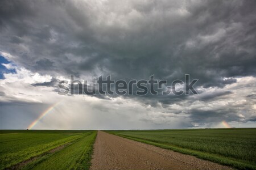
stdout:
[[[0,129],[256,127],[256,1],[2,0]],[[59,95],[60,80],[198,79],[190,95]]]

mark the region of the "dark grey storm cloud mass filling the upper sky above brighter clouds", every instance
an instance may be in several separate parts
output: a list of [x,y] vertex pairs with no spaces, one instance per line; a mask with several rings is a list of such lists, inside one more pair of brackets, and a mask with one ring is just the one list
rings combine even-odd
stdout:
[[[160,103],[168,112],[169,104],[229,100],[236,90],[204,88],[221,89],[256,75],[255,6],[253,0],[3,0],[0,51],[10,53],[19,66],[53,77],[32,86],[56,87],[57,76],[69,79],[71,74],[81,79],[111,74],[127,81],[154,74],[169,83],[184,80],[184,74],[199,79],[194,86],[198,96],[125,96],[152,107]],[[254,102],[255,97],[247,98]],[[241,108],[191,109],[188,114],[202,123],[241,121]]]

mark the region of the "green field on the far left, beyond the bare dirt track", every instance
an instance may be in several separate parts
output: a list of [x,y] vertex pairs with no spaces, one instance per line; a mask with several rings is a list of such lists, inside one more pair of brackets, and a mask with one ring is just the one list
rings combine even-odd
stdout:
[[0,130],[0,169],[43,156],[56,147],[74,143],[91,133],[70,130]]

